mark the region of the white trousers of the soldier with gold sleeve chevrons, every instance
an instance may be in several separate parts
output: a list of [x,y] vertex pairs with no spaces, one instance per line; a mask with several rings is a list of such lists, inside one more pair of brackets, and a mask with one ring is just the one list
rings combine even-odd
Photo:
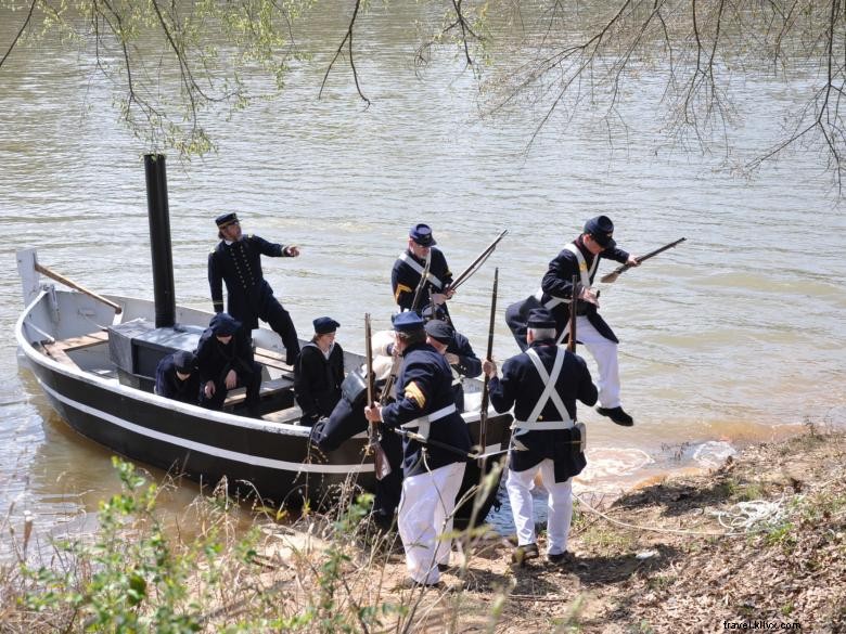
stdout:
[[[437,583],[438,564],[449,562],[452,510],[464,478],[464,463],[452,463],[402,480],[397,527],[406,566],[418,583]],[[439,539],[440,538],[440,539]]]

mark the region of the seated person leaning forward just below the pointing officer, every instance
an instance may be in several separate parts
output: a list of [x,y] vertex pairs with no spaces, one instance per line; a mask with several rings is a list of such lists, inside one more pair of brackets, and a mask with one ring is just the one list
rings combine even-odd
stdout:
[[241,322],[226,312],[211,318],[196,347],[200,374],[200,404],[209,410],[222,410],[229,390],[246,388],[246,407],[259,418],[261,366],[253,359],[249,334]]

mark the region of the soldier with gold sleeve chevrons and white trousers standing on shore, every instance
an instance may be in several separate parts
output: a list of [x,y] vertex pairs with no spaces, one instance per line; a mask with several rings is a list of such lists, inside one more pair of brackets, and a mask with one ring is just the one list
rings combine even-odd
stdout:
[[403,428],[425,439],[456,449],[402,440],[402,501],[399,505],[399,535],[406,549],[411,583],[435,585],[439,567],[448,566],[449,534],[456,495],[464,476],[465,454],[470,450],[467,426],[456,409],[452,373],[443,354],[426,344],[423,319],[403,312],[394,320],[395,346],[402,355],[397,377],[397,401],[370,406],[364,415],[371,423],[384,422],[389,428]]

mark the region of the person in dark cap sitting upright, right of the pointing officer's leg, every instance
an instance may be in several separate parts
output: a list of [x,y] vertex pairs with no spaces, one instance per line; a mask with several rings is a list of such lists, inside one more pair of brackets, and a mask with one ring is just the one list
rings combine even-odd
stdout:
[[312,323],[315,336],[303,347],[294,366],[294,392],[303,410],[300,424],[309,426],[332,413],[344,383],[344,350],[335,342],[341,324],[328,316]]

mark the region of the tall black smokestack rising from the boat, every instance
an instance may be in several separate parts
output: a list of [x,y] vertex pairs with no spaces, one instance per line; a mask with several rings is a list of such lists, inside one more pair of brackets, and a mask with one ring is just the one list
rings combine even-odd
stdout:
[[176,323],[174,256],[170,251],[170,208],[167,205],[167,171],[164,154],[145,154],[146,207],[150,217],[150,250],[153,256],[153,295],[156,327]]

